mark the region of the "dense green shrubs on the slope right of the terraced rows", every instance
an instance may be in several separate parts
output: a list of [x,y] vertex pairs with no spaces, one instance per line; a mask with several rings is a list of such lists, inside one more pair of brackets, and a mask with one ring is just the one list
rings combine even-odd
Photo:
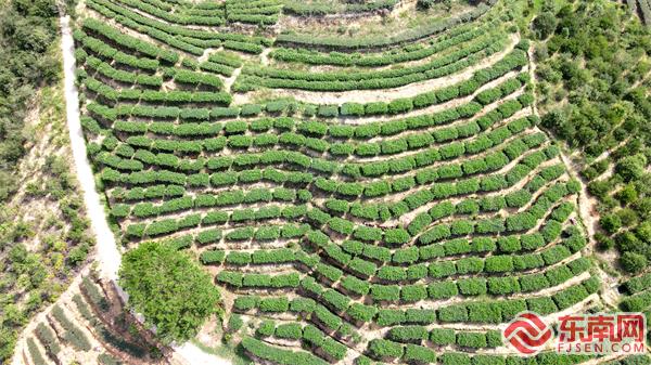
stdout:
[[599,199],[600,247],[616,247],[621,268],[639,273],[651,260],[651,32],[608,1],[539,17],[542,125],[580,152],[580,174]]

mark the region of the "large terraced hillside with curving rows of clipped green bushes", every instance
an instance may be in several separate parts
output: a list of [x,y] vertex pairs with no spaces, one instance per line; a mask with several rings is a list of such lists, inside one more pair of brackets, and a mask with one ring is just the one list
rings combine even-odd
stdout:
[[[276,0],[87,0],[82,123],[125,248],[195,255],[224,298],[210,336],[256,364],[523,363],[503,324],[610,288],[518,3],[366,38],[297,31]],[[369,16],[420,11],[386,6]]]

